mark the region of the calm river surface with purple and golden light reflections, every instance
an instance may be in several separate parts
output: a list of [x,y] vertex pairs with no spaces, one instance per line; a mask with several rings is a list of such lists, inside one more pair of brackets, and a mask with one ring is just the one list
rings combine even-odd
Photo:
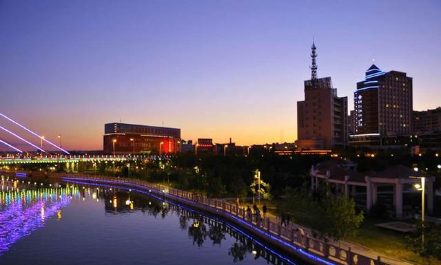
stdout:
[[225,222],[133,191],[63,184],[1,196],[0,264],[300,263]]

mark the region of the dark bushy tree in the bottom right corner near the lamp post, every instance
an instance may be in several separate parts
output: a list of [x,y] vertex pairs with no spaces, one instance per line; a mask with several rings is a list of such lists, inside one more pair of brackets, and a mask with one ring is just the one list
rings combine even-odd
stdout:
[[[424,237],[424,240],[423,240]],[[407,247],[427,259],[441,259],[441,226],[429,222],[418,222],[415,231],[406,237]]]

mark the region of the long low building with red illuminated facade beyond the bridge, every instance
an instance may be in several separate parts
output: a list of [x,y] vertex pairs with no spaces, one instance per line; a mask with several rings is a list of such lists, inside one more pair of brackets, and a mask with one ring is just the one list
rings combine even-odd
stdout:
[[181,129],[127,123],[104,125],[103,152],[106,155],[176,153],[181,149],[180,144]]

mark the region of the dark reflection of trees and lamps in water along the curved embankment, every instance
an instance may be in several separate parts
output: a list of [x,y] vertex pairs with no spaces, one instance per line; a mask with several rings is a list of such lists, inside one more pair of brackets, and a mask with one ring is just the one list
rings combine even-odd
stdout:
[[[83,189],[85,196],[94,196],[94,187]],[[265,259],[267,264],[301,264],[302,262],[293,260],[290,257],[281,255],[271,248],[261,244],[243,231],[230,226],[229,224],[201,215],[196,211],[185,209],[166,200],[150,198],[147,195],[137,193],[128,189],[98,188],[97,194],[102,196],[107,214],[128,214],[141,211],[154,218],[167,218],[170,215],[178,215],[178,228],[187,231],[189,240],[195,246],[201,248],[204,244],[220,245],[227,239],[226,235],[234,238],[234,243],[228,248],[227,255],[232,257],[232,262],[242,262],[247,255],[252,255],[254,259]]]

